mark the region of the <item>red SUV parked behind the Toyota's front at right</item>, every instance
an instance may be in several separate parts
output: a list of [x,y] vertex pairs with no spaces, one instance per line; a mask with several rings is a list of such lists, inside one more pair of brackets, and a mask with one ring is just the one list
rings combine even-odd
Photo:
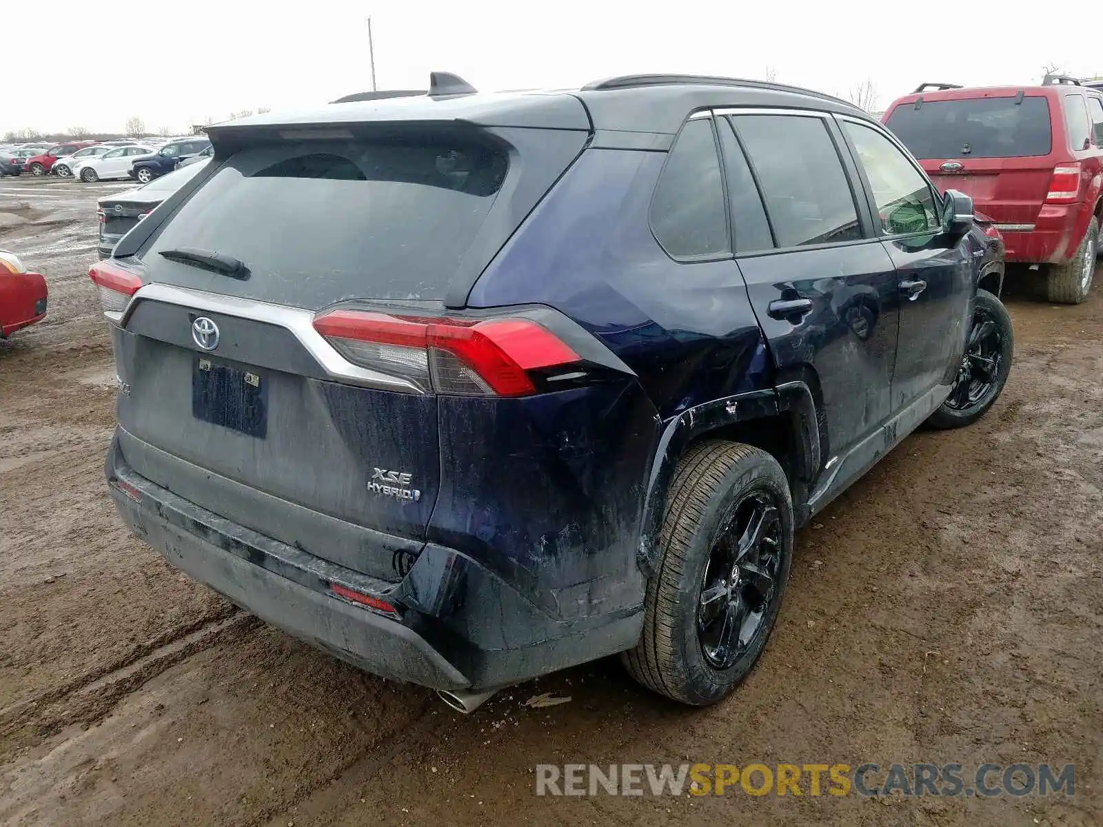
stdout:
[[1004,234],[1007,260],[1039,265],[1050,301],[1088,297],[1099,248],[1103,89],[1046,75],[1041,86],[922,84],[885,123],[939,189],[973,196]]

